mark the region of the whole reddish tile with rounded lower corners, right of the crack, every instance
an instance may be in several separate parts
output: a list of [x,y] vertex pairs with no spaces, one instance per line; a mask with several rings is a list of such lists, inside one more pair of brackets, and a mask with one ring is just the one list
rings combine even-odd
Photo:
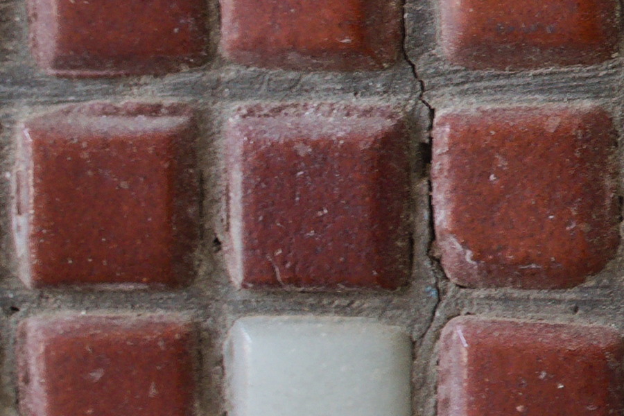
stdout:
[[446,112],[433,128],[433,209],[462,286],[568,288],[618,246],[617,133],[597,107]]

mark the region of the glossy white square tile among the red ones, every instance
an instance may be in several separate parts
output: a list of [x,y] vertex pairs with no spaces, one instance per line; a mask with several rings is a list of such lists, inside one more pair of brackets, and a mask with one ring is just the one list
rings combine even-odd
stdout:
[[363,318],[250,317],[225,349],[230,416],[410,416],[411,343]]

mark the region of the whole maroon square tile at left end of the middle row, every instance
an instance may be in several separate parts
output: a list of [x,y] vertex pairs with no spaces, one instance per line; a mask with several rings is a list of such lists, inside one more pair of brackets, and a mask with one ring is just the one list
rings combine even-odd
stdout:
[[26,121],[13,225],[28,286],[177,286],[198,239],[189,107],[92,103]]

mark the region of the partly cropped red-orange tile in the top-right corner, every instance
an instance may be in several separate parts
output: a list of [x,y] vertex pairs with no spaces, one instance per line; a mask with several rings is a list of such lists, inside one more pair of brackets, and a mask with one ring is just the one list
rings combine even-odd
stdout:
[[440,42],[472,69],[596,64],[618,52],[618,19],[614,0],[440,0]]

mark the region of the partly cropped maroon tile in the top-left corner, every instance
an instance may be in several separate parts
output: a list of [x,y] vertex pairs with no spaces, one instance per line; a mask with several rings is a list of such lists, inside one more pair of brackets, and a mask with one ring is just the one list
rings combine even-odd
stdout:
[[204,0],[28,0],[31,49],[57,76],[180,71],[201,64]]

